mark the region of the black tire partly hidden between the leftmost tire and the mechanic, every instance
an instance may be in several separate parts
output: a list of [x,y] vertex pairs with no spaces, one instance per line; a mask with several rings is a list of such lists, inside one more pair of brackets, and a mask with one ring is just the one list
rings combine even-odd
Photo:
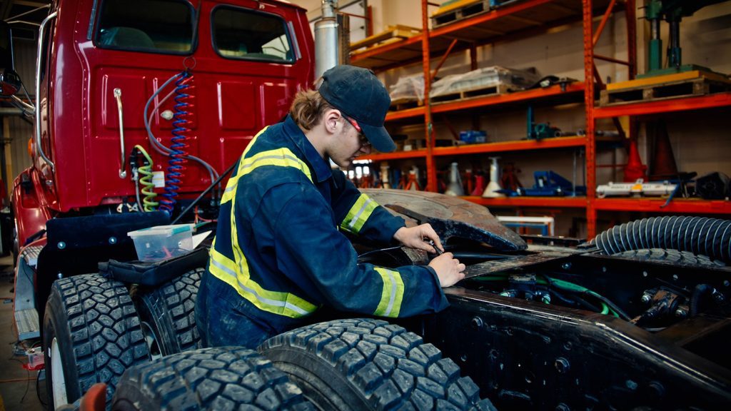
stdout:
[[[196,268],[156,288],[138,288],[137,312],[153,355],[172,355],[202,348],[195,325],[195,298],[205,268]],[[149,334],[152,335],[149,335]],[[152,338],[154,337],[154,338]]]

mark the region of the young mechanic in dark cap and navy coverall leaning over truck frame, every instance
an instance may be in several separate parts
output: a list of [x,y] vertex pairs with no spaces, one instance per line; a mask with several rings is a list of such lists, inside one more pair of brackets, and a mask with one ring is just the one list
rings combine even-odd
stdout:
[[447,306],[441,287],[464,278],[444,253],[428,266],[358,264],[348,231],[374,244],[443,251],[428,224],[405,227],[360,193],[348,167],[371,146],[395,149],[383,127],[390,97],[368,69],[337,66],[317,91],[300,91],[289,116],[257,134],[221,199],[216,238],[197,296],[206,346],[256,348],[306,324],[319,306],[407,317]]

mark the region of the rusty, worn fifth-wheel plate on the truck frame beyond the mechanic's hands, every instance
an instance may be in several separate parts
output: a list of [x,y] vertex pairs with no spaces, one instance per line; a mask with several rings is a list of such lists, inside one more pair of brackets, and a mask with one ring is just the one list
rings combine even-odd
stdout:
[[500,251],[528,248],[518,233],[501,225],[487,208],[458,197],[434,192],[362,189],[361,192],[392,214],[414,223],[429,223],[442,238],[458,237],[484,242]]

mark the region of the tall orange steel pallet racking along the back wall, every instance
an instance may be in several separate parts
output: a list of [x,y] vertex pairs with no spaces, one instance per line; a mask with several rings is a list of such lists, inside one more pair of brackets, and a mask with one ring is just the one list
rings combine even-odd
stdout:
[[[545,150],[550,148],[583,148],[586,153],[586,197],[512,197],[482,198],[464,197],[484,206],[502,207],[551,207],[586,208],[588,236],[596,235],[597,211],[642,211],[648,213],[731,214],[727,201],[673,200],[661,207],[664,200],[652,199],[600,199],[596,197],[596,137],[595,121],[612,118],[621,129],[619,116],[641,116],[704,108],[731,107],[731,93],[687,97],[661,102],[636,102],[609,107],[596,107],[598,91],[605,88],[595,61],[610,61],[627,67],[629,79],[637,73],[635,0],[523,0],[483,12],[470,18],[447,23],[436,29],[429,28],[428,0],[422,0],[422,32],[383,46],[376,46],[352,54],[352,64],[382,72],[396,67],[421,62],[424,73],[424,105],[417,108],[388,113],[386,121],[414,121],[423,118],[426,148],[390,154],[372,154],[363,159],[374,161],[397,159],[424,159],[426,162],[429,191],[436,191],[437,177],[435,157],[463,154],[496,154],[510,151]],[[624,12],[627,32],[627,59],[594,53],[607,22],[615,12]],[[601,16],[594,30],[594,18]],[[431,82],[447,56],[455,51],[469,51],[471,69],[477,68],[477,47],[497,40],[522,39],[544,33],[567,23],[583,22],[583,69],[584,80],[559,86],[499,94],[449,102],[431,102],[428,98]],[[432,59],[439,59],[432,69]],[[556,137],[544,140],[521,140],[501,143],[475,144],[471,146],[435,147],[432,115],[479,110],[486,107],[518,107],[531,102],[558,105],[565,102],[583,102],[586,116],[586,135]],[[633,118],[632,121],[635,121]],[[621,132],[623,135],[624,132]],[[632,136],[629,136],[632,137]]]

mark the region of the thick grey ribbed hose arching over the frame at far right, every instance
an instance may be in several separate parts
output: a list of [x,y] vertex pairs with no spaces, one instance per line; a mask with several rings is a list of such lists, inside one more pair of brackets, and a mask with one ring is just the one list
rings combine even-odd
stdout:
[[616,225],[599,235],[605,254],[636,249],[677,249],[731,263],[731,220],[697,216],[662,216]]

